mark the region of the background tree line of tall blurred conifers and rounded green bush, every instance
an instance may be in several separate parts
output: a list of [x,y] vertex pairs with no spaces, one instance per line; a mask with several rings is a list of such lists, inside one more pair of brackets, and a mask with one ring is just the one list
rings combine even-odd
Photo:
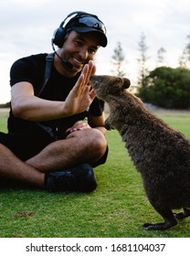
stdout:
[[[187,36],[190,39],[190,35]],[[147,69],[146,37],[142,33],[138,43],[140,58],[138,60],[139,72],[137,79],[137,96],[142,101],[153,103],[164,108],[188,109],[190,108],[190,40],[185,45],[182,55],[179,57],[178,67],[173,69],[164,65],[166,50],[159,48],[157,51],[156,67]],[[114,69],[111,73],[124,77],[125,55],[118,42],[114,48],[111,62]]]

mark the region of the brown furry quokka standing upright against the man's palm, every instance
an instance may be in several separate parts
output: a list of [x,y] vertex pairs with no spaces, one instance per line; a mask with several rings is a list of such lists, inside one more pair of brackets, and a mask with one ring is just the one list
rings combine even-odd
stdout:
[[[141,173],[143,187],[163,223],[145,223],[146,229],[168,229],[176,219],[190,216],[190,143],[161,119],[145,109],[142,101],[126,89],[130,80],[93,76],[91,86],[107,101],[110,116],[105,127],[116,129]],[[183,208],[174,214],[173,209]]]

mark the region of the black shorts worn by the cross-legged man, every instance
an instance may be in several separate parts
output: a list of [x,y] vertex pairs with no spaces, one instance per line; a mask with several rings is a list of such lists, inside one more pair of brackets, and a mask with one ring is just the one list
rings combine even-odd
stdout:
[[[41,128],[39,128],[35,134],[0,132],[0,144],[4,144],[14,153],[14,155],[16,155],[22,161],[26,161],[27,159],[37,155],[48,144],[53,142],[55,142],[55,139]],[[104,164],[106,162],[107,155],[108,148],[100,160],[93,164],[93,167]]]

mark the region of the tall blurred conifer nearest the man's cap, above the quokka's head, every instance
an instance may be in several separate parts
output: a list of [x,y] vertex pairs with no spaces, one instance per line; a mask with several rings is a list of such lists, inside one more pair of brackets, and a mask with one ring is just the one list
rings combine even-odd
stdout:
[[123,50],[121,48],[121,42],[117,43],[117,47],[114,48],[113,51],[113,55],[112,55],[112,59],[111,59],[111,63],[113,64],[114,68],[111,69],[111,73],[114,76],[118,76],[118,77],[125,77],[126,73],[124,71],[123,65],[125,62],[125,56],[123,53]]

